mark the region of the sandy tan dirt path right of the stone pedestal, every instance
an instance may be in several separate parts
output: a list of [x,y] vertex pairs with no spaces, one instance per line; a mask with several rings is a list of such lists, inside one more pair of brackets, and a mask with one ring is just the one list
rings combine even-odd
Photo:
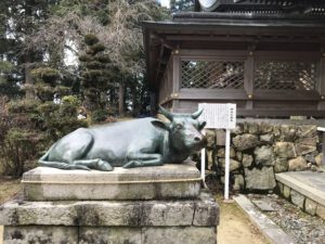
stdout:
[[221,195],[217,195],[217,201],[220,205],[218,244],[270,244],[236,203],[223,203]]

